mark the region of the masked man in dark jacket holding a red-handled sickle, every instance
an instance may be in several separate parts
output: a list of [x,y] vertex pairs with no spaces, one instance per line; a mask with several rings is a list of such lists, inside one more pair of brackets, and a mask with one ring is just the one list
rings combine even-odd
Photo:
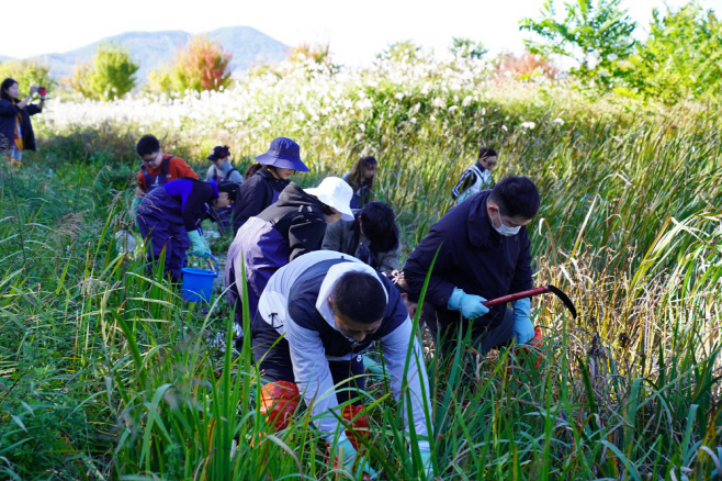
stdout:
[[534,337],[529,299],[487,309],[482,302],[531,289],[531,255],[526,225],[539,211],[539,192],[526,177],[507,177],[452,209],[416,247],[404,266],[417,295],[427,272],[424,320],[440,350],[448,353],[471,327],[473,347],[485,354],[516,337]]

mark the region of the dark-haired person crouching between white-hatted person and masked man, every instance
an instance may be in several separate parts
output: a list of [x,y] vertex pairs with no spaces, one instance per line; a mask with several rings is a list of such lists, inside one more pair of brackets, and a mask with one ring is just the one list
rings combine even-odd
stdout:
[[387,204],[370,202],[352,220],[328,225],[321,249],[349,254],[388,277],[402,254],[394,217]]

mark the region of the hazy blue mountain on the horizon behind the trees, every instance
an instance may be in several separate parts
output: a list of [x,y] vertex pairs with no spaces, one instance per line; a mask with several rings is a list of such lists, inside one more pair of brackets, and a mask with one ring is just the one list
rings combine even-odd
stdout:
[[[212,40],[221,42],[223,47],[233,54],[230,68],[239,74],[248,70],[251,63],[280,61],[285,58],[287,47],[250,26],[226,26],[207,32]],[[126,32],[110,36],[99,42],[66,52],[65,54],[46,54],[34,57],[50,66],[50,75],[56,79],[72,74],[76,63],[92,58],[99,44],[114,42],[121,44],[131,53],[131,58],[139,65],[136,74],[139,83],[144,83],[148,71],[169,63],[179,45],[185,45],[191,38],[188,32]],[[0,56],[0,61],[11,59]]]

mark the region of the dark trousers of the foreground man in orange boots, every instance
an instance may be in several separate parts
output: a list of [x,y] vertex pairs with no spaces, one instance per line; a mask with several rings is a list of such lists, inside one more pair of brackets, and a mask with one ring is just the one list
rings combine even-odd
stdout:
[[[257,314],[251,323],[251,346],[264,382],[296,382],[289,342],[280,338],[279,333],[263,321],[260,314]],[[361,395],[359,391],[365,388],[361,355],[353,356],[351,360],[328,361],[328,367],[339,404]],[[353,404],[361,404],[361,401],[357,400]]]

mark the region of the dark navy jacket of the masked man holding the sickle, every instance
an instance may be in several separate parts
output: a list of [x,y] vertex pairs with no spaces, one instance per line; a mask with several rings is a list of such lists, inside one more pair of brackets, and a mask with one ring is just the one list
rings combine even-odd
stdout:
[[[482,191],[462,202],[437,222],[404,266],[409,288],[420,293],[426,275],[439,249],[426,292],[426,302],[442,322],[459,320],[459,311],[448,309],[454,288],[467,294],[495,299],[531,289],[531,254],[527,227],[514,236],[499,235],[486,213],[490,191]],[[439,246],[441,246],[439,248]],[[475,326],[498,325],[506,304],[492,307]]]

